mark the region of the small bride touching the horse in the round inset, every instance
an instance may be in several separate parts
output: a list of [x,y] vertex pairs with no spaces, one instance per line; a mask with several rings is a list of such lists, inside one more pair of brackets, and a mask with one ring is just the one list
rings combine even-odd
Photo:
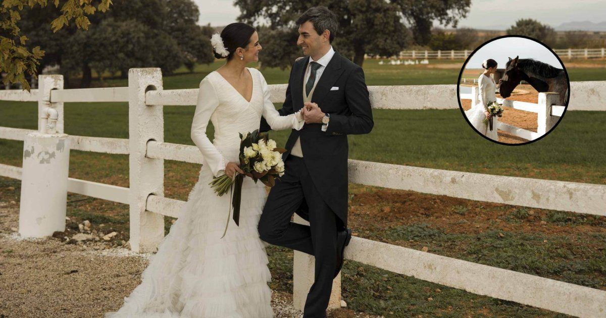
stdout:
[[494,141],[499,141],[498,129],[498,117],[493,117],[493,130],[490,130],[488,125],[482,122],[484,118],[490,118],[488,113],[487,104],[491,101],[496,101],[495,91],[501,86],[502,79],[499,79],[499,84],[495,84],[494,80],[490,77],[491,74],[496,72],[497,63],[493,59],[487,59],[482,62],[482,68],[484,73],[478,78],[479,101],[476,105],[471,105],[471,108],[465,111],[465,116],[479,133],[484,134]]

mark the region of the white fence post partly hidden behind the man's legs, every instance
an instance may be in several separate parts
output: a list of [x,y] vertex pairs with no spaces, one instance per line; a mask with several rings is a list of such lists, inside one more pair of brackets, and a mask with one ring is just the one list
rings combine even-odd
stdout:
[[[309,225],[309,222],[295,214],[295,222]],[[315,259],[309,254],[295,251],[293,259],[293,305],[303,311],[307,293],[313,283]],[[333,280],[333,290],[328,300],[328,309],[341,308],[341,273]]]

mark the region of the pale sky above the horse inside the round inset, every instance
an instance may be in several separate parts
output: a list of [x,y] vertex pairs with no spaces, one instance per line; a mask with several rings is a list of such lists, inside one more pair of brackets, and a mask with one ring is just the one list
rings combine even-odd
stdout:
[[508,58],[519,56],[521,59],[536,59],[557,68],[564,68],[550,50],[543,45],[525,38],[502,38],[494,40],[480,48],[465,68],[482,68],[482,61],[494,59],[498,68],[505,68]]

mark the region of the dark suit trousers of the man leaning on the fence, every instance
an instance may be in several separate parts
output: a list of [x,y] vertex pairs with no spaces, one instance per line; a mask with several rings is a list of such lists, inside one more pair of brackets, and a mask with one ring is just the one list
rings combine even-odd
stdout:
[[[304,318],[324,318],[337,260],[337,218],[313,184],[304,159],[288,156],[285,173],[267,197],[259,236],[267,243],[315,256],[315,277],[305,300]],[[301,207],[307,206],[307,215]],[[298,211],[310,225],[291,222]]]

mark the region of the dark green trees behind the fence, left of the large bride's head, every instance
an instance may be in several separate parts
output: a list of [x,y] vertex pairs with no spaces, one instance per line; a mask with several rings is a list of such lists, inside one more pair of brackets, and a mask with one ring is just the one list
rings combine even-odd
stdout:
[[195,63],[214,61],[209,27],[200,27],[198,7],[191,0],[128,0],[113,5],[104,15],[90,19],[90,30],[78,35],[66,27],[57,33],[47,28],[54,8],[25,10],[23,30],[31,44],[47,48],[44,65],[59,64],[65,87],[90,87],[92,71],[110,71],[127,78],[128,68],[160,67],[170,75],[181,64],[191,70]]

